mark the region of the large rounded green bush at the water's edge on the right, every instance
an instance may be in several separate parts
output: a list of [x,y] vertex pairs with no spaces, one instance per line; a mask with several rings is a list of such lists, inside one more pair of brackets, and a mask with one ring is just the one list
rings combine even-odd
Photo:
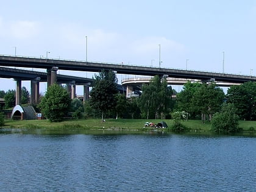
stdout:
[[233,104],[222,105],[221,112],[215,113],[212,119],[212,129],[215,132],[237,132],[238,115]]

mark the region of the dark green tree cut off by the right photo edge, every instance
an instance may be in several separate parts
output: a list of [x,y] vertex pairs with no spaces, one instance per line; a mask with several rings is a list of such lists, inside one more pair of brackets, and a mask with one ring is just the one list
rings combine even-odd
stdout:
[[227,90],[227,102],[237,108],[240,119],[256,120],[256,82],[233,85]]

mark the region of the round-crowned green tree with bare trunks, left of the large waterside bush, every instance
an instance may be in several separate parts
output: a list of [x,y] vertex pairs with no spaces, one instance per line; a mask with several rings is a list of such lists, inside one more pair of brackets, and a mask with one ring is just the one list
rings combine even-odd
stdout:
[[192,104],[195,112],[202,114],[204,123],[205,115],[208,115],[210,121],[212,115],[218,112],[221,104],[224,102],[225,94],[223,90],[216,87],[216,84],[202,84],[194,93]]

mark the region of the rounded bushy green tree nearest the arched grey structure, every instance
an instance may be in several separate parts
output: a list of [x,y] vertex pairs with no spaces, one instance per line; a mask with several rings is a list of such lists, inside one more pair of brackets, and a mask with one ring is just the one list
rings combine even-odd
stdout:
[[68,113],[70,104],[71,99],[66,89],[54,84],[46,91],[39,108],[50,122],[62,121],[63,117]]

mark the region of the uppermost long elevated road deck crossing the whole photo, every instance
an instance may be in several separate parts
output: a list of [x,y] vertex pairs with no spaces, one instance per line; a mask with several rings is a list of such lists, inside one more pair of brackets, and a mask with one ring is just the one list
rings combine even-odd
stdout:
[[49,71],[52,69],[63,69],[72,71],[91,71],[99,72],[102,69],[116,71],[118,74],[133,74],[141,76],[168,76],[183,79],[199,79],[208,81],[215,79],[219,82],[231,82],[243,84],[244,82],[256,81],[256,76],[242,76],[237,74],[227,73],[212,73],[206,71],[191,71],[182,69],[170,68],[155,68],[148,66],[134,66],[113,63],[98,63],[98,62],[82,62],[76,60],[62,59],[40,59],[30,57],[14,57],[10,55],[0,55],[1,66],[16,66],[26,68],[44,68]]

